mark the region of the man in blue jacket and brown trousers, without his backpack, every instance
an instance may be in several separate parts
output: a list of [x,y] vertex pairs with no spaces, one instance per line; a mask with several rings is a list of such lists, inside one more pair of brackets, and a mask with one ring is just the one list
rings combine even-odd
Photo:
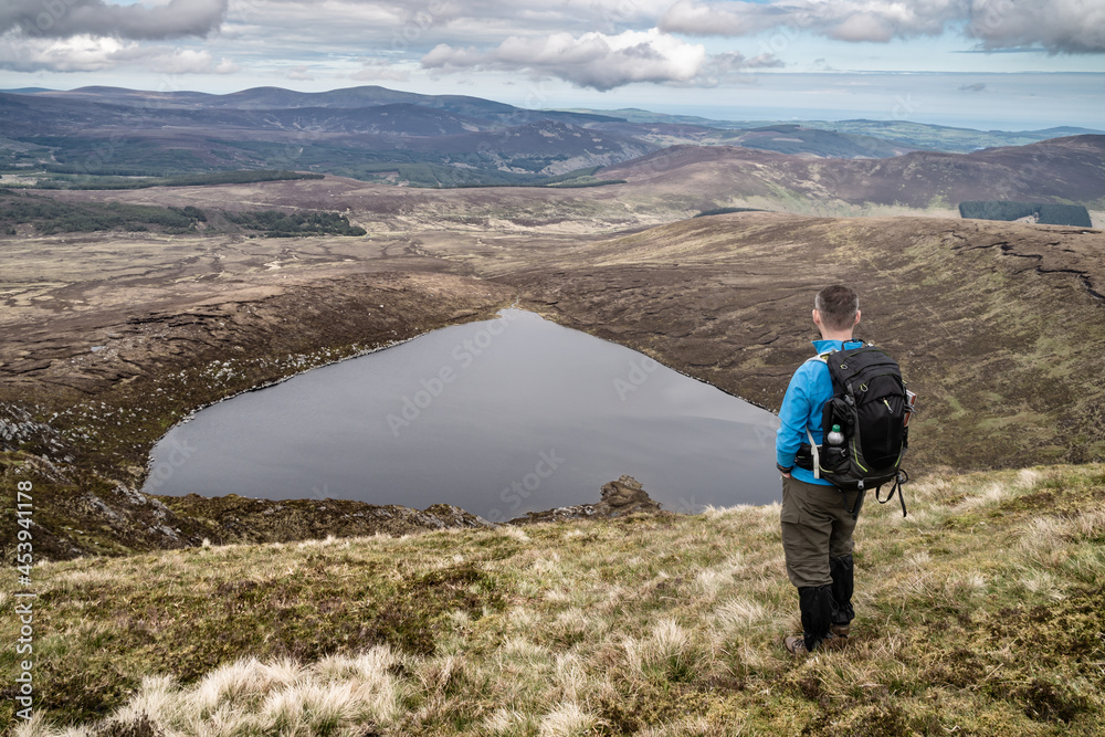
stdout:
[[[850,504],[845,507],[843,492],[817,477],[812,463],[808,467],[796,464],[796,456],[808,436],[818,445],[824,442],[821,412],[833,389],[823,356],[862,345],[852,339],[860,323],[860,298],[851,288],[834,285],[821,289],[813,305],[813,324],[822,338],[813,341],[818,356],[794,371],[779,411],[781,424],[776,436],[776,465],[782,474],[782,549],[787,576],[798,587],[802,614],[803,634],[785,640],[793,654],[812,652],[833,636],[848,636],[855,615],[852,531],[859,508],[852,505],[859,499],[846,499]],[[859,494],[862,492],[850,497]]]

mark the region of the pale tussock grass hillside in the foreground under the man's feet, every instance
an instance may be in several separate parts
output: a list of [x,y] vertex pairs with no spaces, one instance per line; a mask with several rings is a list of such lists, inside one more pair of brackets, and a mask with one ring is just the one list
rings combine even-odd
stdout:
[[712,508],[44,565],[41,716],[0,716],[22,737],[1105,734],[1105,466],[906,488],[908,518],[864,507],[852,636],[809,657],[781,644],[778,505]]

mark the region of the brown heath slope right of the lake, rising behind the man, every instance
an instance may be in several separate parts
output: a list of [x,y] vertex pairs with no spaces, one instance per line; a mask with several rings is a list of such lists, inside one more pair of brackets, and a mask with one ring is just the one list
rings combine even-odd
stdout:
[[488,269],[564,324],[771,410],[817,337],[812,295],[854,285],[859,335],[920,396],[907,465],[978,468],[1105,460],[1103,256],[1101,231],[749,212]]

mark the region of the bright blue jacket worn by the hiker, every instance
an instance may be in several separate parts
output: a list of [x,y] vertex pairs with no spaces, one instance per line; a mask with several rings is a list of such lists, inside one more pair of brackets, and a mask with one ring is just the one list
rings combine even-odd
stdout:
[[[849,340],[849,347],[857,348],[863,345],[862,340]],[[814,340],[813,347],[818,356],[833,350],[840,350],[843,343],[840,340]],[[782,408],[779,410],[779,432],[775,438],[776,462],[782,467],[794,465],[794,454],[802,443],[810,442],[806,436],[809,428],[813,434],[813,442],[820,445],[823,440],[821,428],[821,412],[825,402],[832,399],[832,379],[829,377],[829,367],[818,357],[810,358],[798,367],[794,376],[787,387],[787,394],[782,398]],[[832,486],[823,478],[814,478],[812,471],[794,466],[790,474],[798,481],[807,484],[823,484]]]

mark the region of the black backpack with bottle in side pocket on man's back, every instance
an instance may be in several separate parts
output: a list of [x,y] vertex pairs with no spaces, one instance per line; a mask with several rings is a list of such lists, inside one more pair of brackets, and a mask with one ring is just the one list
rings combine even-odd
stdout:
[[[890,502],[896,491],[905,516],[902,484],[909,476],[902,470],[902,459],[908,446],[909,415],[916,394],[906,391],[897,362],[871,345],[834,350],[818,359],[829,368],[833,396],[822,410],[823,444],[813,445],[813,436],[807,430],[811,470],[839,488],[860,492],[854,510],[848,509],[854,515],[860,513],[864,492],[874,487],[880,504]],[[843,434],[840,444],[829,441],[833,425],[840,425]],[[894,485],[890,494],[881,498],[883,484],[891,482]]]

